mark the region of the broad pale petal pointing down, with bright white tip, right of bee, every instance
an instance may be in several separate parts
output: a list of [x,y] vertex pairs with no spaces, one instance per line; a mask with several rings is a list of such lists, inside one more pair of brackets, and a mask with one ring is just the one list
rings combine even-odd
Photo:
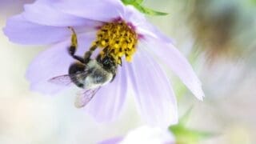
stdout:
[[138,50],[129,66],[135,98],[142,115],[152,126],[167,127],[178,122],[172,86],[162,68],[145,51]]

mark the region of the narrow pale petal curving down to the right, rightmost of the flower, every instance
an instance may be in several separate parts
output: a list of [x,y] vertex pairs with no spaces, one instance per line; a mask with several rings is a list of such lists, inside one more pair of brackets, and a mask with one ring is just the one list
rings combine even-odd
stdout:
[[199,100],[202,100],[204,93],[202,91],[200,80],[194,73],[190,63],[171,42],[150,37],[146,37],[142,41],[148,43],[149,49],[146,49],[147,51],[155,54],[160,60],[162,60],[162,62],[165,62],[167,66],[170,66],[170,69],[173,70],[179,78],[181,78],[182,82],[191,90],[191,92]]

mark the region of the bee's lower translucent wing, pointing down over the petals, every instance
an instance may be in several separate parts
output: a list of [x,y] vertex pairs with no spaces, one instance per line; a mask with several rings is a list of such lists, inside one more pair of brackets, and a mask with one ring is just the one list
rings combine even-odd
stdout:
[[86,104],[90,102],[92,98],[94,98],[94,95],[100,88],[101,87],[99,86],[94,89],[85,90],[81,94],[78,94],[75,99],[74,106],[76,106],[77,108],[82,108],[83,106],[86,106]]

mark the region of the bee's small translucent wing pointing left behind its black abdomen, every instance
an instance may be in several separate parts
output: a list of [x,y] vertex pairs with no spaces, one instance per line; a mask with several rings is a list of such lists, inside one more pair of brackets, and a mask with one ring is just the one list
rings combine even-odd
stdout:
[[70,78],[70,74],[65,74],[65,75],[60,75],[54,78],[50,78],[48,82],[57,84],[57,85],[62,85],[62,86],[70,86],[72,83],[72,80]]

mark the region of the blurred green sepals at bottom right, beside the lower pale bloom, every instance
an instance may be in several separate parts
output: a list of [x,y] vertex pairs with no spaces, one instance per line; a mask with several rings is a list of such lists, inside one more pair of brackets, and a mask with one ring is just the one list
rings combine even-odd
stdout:
[[192,130],[186,127],[186,122],[190,117],[190,112],[192,108],[180,118],[179,123],[174,126],[170,126],[169,130],[174,134],[177,143],[186,143],[186,144],[195,144],[198,143],[200,140],[205,138],[211,138],[216,134],[199,131],[199,130]]

